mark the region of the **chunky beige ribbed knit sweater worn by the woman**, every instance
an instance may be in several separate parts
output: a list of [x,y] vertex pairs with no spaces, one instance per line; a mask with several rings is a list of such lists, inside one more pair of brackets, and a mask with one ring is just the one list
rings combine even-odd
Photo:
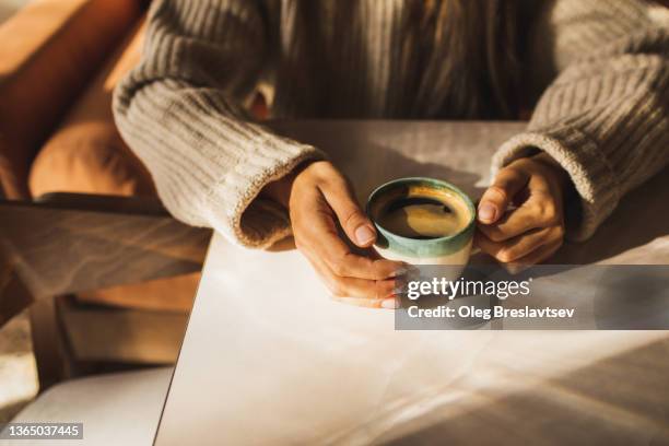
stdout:
[[[324,154],[247,117],[243,97],[268,67],[274,116],[402,116],[398,92],[412,67],[396,52],[408,0],[319,0],[308,9],[317,16],[305,17],[314,1],[154,0],[142,61],[116,89],[114,113],[175,218],[250,247],[290,233],[285,210],[258,193]],[[542,95],[492,168],[537,150],[552,155],[580,196],[567,235],[585,239],[669,160],[669,32],[636,0],[547,2],[532,30],[524,69]],[[304,51],[308,33],[328,61],[319,79]],[[324,87],[336,94],[315,108]]]

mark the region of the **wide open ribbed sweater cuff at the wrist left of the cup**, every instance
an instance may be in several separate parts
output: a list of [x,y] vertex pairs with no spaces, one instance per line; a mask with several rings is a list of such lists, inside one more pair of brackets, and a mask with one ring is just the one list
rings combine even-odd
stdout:
[[271,136],[255,141],[255,150],[239,168],[233,168],[207,193],[202,214],[208,223],[228,239],[250,248],[266,248],[291,234],[287,211],[258,197],[273,180],[289,174],[307,160],[322,160],[318,149]]

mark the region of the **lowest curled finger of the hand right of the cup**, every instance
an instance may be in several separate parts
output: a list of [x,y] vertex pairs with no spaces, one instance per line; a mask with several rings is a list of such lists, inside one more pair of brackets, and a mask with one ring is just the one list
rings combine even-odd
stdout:
[[491,240],[484,233],[478,233],[476,243],[481,250],[507,263],[529,255],[543,245],[562,240],[562,227],[554,226],[531,231],[505,242]]

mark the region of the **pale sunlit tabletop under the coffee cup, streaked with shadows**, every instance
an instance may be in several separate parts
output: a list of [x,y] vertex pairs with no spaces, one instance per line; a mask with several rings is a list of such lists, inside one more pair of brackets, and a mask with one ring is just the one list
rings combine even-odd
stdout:
[[[408,175],[480,195],[524,125],[275,128],[326,150],[362,201]],[[667,263],[666,177],[558,260]],[[258,251],[215,235],[156,444],[665,444],[668,353],[665,331],[396,331],[391,312],[329,300],[291,240]]]

